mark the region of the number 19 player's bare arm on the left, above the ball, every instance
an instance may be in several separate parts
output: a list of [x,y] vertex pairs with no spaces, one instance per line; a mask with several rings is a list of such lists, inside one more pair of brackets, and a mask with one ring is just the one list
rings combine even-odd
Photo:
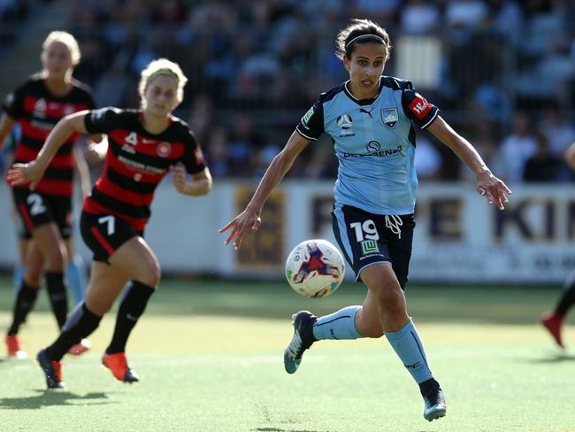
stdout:
[[232,230],[226,238],[226,244],[233,242],[235,249],[239,249],[242,246],[242,237],[246,230],[248,228],[252,231],[257,230],[261,223],[260,214],[265,201],[281,179],[288,173],[297,155],[309,142],[310,140],[299,135],[296,131],[289,137],[286,146],[273,158],[272,163],[265,171],[264,177],[257,185],[256,192],[251,197],[246,209],[219,230],[220,233],[229,229]]

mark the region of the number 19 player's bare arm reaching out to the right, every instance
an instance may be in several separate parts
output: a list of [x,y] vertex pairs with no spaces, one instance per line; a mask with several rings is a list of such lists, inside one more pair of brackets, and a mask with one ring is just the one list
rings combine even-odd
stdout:
[[449,124],[438,116],[433,123],[427,127],[441,143],[444,143],[453,150],[457,158],[469,166],[477,176],[477,191],[480,195],[487,197],[489,204],[494,204],[499,210],[503,210],[504,204],[508,202],[505,194],[510,194],[510,189],[491,173],[483,159],[472,144],[463,136],[456,133]]

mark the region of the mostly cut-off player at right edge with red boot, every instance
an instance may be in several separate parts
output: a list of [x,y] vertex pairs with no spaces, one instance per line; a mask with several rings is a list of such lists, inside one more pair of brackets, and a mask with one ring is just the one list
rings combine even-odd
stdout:
[[[565,151],[565,162],[575,171],[575,143],[571,143],[569,148]],[[548,332],[553,336],[556,344],[561,348],[563,345],[563,319],[567,312],[575,305],[575,271],[567,277],[563,284],[563,292],[559,301],[552,312],[545,313],[541,316],[541,324],[548,329]]]

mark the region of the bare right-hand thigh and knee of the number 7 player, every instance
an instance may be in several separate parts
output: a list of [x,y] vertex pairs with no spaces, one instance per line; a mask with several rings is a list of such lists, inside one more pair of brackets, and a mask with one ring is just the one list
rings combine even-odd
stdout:
[[125,269],[131,279],[156,287],[160,281],[160,266],[156,254],[141,236],[132,237],[111,255],[111,266]]

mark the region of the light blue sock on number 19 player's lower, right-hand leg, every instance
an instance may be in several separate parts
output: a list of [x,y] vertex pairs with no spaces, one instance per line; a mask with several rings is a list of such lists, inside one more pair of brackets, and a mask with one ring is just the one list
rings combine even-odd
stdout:
[[386,337],[415,382],[420,383],[433,378],[427,366],[426,351],[412,320],[396,332],[386,333]]

